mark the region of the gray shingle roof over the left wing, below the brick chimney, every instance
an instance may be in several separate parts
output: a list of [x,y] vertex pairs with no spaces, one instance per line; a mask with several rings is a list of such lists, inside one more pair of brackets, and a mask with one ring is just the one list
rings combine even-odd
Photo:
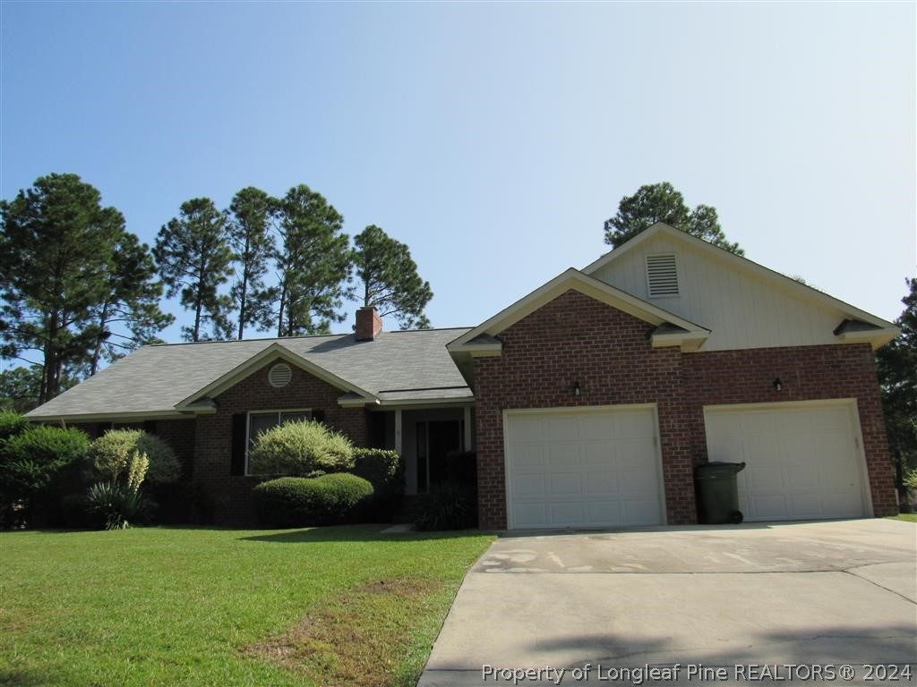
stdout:
[[446,350],[446,344],[468,331],[382,332],[371,342],[335,334],[144,346],[28,416],[171,411],[272,344],[281,344],[381,400],[470,399],[471,390]]

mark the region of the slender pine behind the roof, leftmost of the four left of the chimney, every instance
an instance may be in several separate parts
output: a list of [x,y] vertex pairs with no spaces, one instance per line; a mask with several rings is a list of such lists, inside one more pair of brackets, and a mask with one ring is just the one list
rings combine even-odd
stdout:
[[232,277],[232,250],[226,243],[226,213],[209,198],[182,202],[178,217],[165,224],[156,238],[153,255],[159,263],[166,295],[181,296],[182,306],[193,311],[192,326],[182,327],[186,341],[208,338],[210,322],[215,336],[229,338],[231,300],[220,293]]

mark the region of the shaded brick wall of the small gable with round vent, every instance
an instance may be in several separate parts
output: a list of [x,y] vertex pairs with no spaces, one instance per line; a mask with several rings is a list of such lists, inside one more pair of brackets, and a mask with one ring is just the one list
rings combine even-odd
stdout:
[[219,524],[248,525],[254,522],[251,489],[259,477],[229,474],[232,457],[232,416],[249,410],[310,408],[323,410],[325,422],[347,434],[358,446],[366,445],[367,418],[364,409],[343,409],[337,398],[343,395],[337,387],[293,367],[293,379],[286,387],[274,388],[268,383],[268,370],[276,360],[241,380],[215,398],[215,415],[197,419],[194,458],[194,481],[215,499],[215,521]]

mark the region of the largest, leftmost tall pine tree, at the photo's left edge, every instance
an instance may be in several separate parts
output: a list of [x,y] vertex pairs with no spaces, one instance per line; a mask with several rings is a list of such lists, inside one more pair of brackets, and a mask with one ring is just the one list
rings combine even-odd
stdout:
[[109,291],[124,216],[102,207],[99,191],[77,175],[50,174],[0,202],[0,219],[3,355],[40,351],[44,402],[99,339],[95,314]]

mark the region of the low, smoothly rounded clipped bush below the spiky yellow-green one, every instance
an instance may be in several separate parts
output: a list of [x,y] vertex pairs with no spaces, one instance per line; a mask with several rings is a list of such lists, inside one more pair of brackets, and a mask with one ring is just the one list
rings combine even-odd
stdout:
[[353,522],[372,496],[372,485],[355,474],[280,477],[254,489],[255,508],[266,527],[311,527]]

